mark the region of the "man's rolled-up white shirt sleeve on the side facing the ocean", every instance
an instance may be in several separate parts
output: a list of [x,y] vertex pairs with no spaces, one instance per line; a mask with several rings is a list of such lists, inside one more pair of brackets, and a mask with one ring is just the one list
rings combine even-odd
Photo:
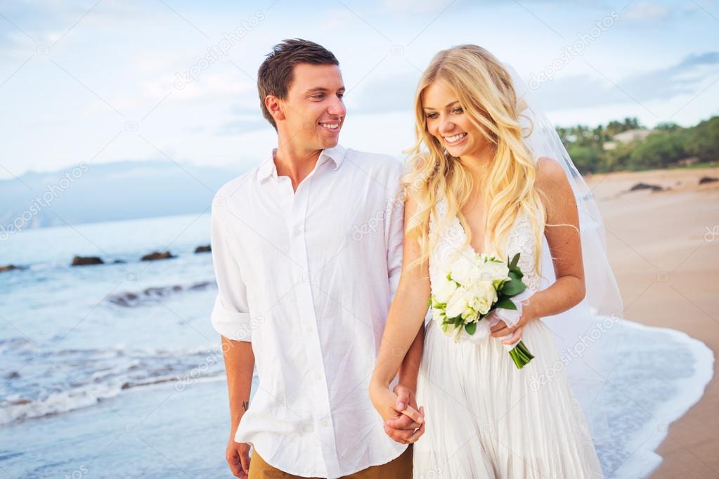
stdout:
[[242,281],[239,264],[232,254],[226,203],[226,197],[219,193],[212,200],[210,243],[217,297],[210,319],[214,329],[225,338],[252,341],[252,320],[247,305],[247,288]]

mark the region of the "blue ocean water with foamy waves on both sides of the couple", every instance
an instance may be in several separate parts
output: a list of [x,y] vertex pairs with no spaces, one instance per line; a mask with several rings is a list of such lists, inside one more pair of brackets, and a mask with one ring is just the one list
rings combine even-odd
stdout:
[[[0,478],[233,477],[209,215],[44,228],[0,241]],[[139,261],[169,250],[175,259]],[[107,264],[71,267],[73,256]],[[113,263],[115,260],[124,261]],[[623,321],[605,475],[646,477],[714,357]]]

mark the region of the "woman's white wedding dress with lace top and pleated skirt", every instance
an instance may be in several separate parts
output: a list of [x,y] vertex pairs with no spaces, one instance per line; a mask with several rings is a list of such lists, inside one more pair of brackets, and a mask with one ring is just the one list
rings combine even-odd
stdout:
[[[436,211],[446,215],[444,200]],[[431,231],[438,219],[432,215]],[[433,288],[465,237],[455,217],[429,258]],[[528,217],[518,218],[506,251],[509,257],[521,253],[523,281],[536,291],[540,278],[532,267]],[[580,404],[557,368],[561,361],[549,328],[533,320],[523,341],[534,359],[519,370],[497,338],[455,342],[429,321],[417,384],[426,431],[413,446],[414,479],[603,477]],[[540,383],[545,371],[551,381]]]

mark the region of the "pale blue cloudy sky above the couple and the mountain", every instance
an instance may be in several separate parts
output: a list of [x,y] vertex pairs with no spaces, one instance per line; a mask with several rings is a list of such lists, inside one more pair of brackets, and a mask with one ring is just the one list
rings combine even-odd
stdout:
[[719,114],[716,0],[6,0],[0,178],[128,159],[251,167],[275,144],[255,74],[289,37],[339,58],[342,144],[398,157],[421,70],[461,43],[513,65],[555,124]]

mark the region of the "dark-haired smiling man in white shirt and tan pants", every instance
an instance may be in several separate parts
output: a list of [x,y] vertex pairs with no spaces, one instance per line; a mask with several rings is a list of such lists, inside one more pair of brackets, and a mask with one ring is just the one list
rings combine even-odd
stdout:
[[257,88],[278,147],[212,205],[226,460],[239,478],[411,478],[423,332],[395,386],[405,414],[383,428],[367,394],[400,276],[401,165],[339,146],[344,83],[324,47],[276,45]]

